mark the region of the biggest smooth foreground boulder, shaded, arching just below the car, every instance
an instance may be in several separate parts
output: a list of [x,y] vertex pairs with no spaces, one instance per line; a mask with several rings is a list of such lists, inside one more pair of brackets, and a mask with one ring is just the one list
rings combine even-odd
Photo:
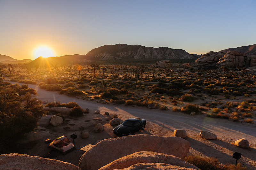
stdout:
[[116,159],[139,151],[164,153],[183,159],[189,146],[187,140],[174,136],[131,135],[110,138],[85,152],[79,160],[79,167],[84,170],[97,170]]

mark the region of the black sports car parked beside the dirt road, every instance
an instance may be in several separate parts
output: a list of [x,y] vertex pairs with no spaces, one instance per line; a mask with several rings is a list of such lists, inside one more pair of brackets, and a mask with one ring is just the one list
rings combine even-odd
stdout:
[[133,133],[144,129],[146,126],[146,120],[140,118],[129,118],[114,128],[113,133],[118,136],[132,135]]

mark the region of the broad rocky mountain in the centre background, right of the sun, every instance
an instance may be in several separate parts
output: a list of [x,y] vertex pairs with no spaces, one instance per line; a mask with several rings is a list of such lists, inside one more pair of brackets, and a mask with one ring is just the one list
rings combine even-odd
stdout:
[[195,54],[168,47],[145,47],[141,45],[104,45],[91,50],[81,59],[196,59]]

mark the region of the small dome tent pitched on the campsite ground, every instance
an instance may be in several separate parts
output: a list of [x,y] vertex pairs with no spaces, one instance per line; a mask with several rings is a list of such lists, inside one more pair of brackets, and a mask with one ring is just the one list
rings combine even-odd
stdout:
[[73,143],[65,135],[62,135],[62,136],[54,139],[50,143],[49,147],[60,150],[60,153],[62,153],[62,154],[66,154],[66,153],[74,151],[76,149],[75,146],[73,145]]

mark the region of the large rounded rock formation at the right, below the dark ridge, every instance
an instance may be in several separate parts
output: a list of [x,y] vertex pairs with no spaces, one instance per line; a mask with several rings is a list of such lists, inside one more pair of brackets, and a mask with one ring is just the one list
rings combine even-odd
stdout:
[[196,59],[195,66],[200,68],[212,69],[221,66],[236,67],[256,67],[256,55],[245,55],[238,51],[214,52],[210,51],[202,57]]

